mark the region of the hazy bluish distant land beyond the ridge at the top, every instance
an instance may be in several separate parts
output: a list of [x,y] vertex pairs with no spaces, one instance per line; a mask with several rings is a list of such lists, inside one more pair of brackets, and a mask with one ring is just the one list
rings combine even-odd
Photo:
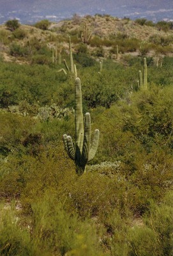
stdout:
[[171,20],[172,0],[1,0],[0,23],[8,19],[19,19],[22,24],[32,24],[41,19],[59,21],[69,19],[74,13],[110,15],[130,19]]

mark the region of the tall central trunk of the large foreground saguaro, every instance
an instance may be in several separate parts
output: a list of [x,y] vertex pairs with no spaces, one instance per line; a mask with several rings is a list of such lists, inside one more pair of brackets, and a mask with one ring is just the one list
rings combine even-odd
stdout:
[[84,129],[83,129],[83,114],[82,114],[82,92],[80,79],[75,79],[75,136],[76,136],[76,154],[77,161],[80,161],[82,154],[83,140],[84,140]]

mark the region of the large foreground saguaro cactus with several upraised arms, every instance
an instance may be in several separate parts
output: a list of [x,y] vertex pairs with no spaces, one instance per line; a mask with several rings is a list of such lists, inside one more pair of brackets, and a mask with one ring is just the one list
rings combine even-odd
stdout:
[[82,92],[80,79],[75,79],[75,147],[71,136],[63,135],[64,147],[68,156],[75,161],[76,172],[81,175],[84,173],[87,162],[91,161],[98,148],[100,132],[94,131],[93,143],[91,145],[91,117],[86,113],[83,124],[82,114]]

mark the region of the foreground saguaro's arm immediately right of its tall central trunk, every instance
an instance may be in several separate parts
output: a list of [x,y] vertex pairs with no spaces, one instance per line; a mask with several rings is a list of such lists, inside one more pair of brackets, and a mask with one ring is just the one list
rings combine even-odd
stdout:
[[85,115],[84,143],[82,148],[81,164],[86,165],[89,157],[89,148],[91,140],[91,117],[89,113]]

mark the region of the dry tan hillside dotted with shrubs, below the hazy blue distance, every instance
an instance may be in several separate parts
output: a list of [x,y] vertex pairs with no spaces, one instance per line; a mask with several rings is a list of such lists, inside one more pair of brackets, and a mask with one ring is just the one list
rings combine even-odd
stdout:
[[[86,26],[87,49],[91,55],[96,56],[98,48],[102,47],[104,58],[116,58],[116,45],[119,52],[123,54],[146,55],[156,57],[157,54],[172,56],[173,30],[169,29],[169,22],[158,22],[154,25],[145,19],[129,20],[117,19],[110,15],[95,15],[79,17],[74,15],[71,20],[52,23],[47,30],[37,29],[34,26],[21,25],[19,32],[9,31],[6,27],[0,26],[1,54],[5,60],[19,61],[22,54],[9,54],[11,44],[23,46],[27,52],[29,41],[31,44],[43,44],[48,49],[56,47],[56,42],[61,44],[61,50],[68,51],[68,36],[71,36],[72,48],[77,52],[78,45],[82,42],[80,38],[81,26]],[[33,53],[32,53],[33,54]],[[27,53],[24,62],[31,60],[31,55]],[[10,56],[11,55],[11,56]],[[19,55],[19,56],[17,56]],[[25,55],[25,54],[23,54]],[[21,58],[20,58],[21,59]],[[22,60],[20,60],[22,61]]]

